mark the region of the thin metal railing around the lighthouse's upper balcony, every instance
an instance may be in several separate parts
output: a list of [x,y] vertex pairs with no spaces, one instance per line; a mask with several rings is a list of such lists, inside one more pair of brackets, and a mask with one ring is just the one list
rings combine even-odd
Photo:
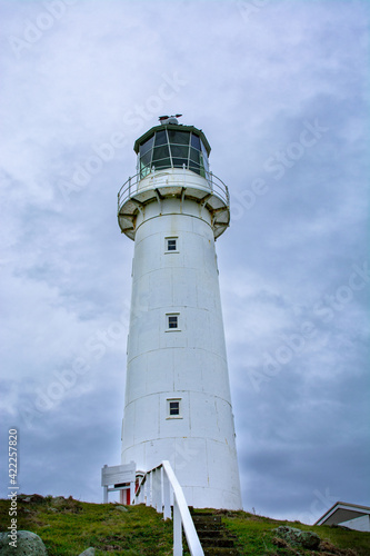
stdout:
[[[184,168],[187,169],[187,168]],[[179,168],[180,170],[180,168]],[[124,181],[123,186],[118,192],[118,214],[120,212],[121,208],[123,205],[131,198],[133,197],[137,192],[146,191],[148,189],[154,189],[157,187],[157,180],[162,178],[163,176],[167,176],[168,173],[166,172],[166,169],[163,170],[156,170],[154,168],[151,170],[150,173],[146,176],[146,178],[142,178],[140,176],[140,172],[136,173],[134,176],[130,176],[128,180]],[[179,177],[178,177],[179,176]],[[176,185],[176,180],[179,180],[179,185],[183,185],[183,181],[186,181],[187,187],[200,187],[199,181],[197,181],[194,175],[194,179],[192,180],[189,173],[183,173],[183,178],[180,178],[181,173],[173,173],[172,177],[174,178],[174,181],[171,182],[169,186]],[[148,187],[141,187],[139,189],[139,183],[142,179],[150,178],[150,185]],[[223,181],[214,176],[213,172],[208,172],[208,177],[204,178],[208,187],[204,188],[204,191],[209,190],[217,197],[219,197],[228,207],[230,206],[230,196],[229,196],[229,189],[228,186],[223,183]],[[158,183],[161,187],[163,187],[163,183]]]

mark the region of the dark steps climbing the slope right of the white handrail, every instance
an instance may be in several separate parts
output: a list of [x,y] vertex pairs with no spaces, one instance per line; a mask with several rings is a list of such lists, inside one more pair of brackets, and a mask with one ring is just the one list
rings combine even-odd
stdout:
[[240,556],[240,552],[234,547],[234,537],[222,524],[220,515],[212,512],[189,509],[204,556]]

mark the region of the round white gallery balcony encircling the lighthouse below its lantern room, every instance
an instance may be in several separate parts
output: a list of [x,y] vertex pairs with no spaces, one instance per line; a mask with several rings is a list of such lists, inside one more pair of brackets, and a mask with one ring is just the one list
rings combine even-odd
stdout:
[[192,200],[200,210],[211,215],[214,239],[221,236],[230,222],[230,198],[228,187],[212,172],[204,177],[187,168],[167,168],[151,171],[142,177],[142,172],[130,177],[118,193],[118,220],[123,234],[134,239],[138,215],[146,206],[163,199],[180,200],[182,212],[184,200]]

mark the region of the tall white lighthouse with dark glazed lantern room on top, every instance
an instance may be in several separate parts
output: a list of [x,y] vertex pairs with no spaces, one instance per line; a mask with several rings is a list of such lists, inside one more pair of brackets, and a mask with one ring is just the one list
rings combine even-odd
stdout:
[[118,193],[134,241],[121,458],[143,473],[168,459],[189,506],[241,509],[214,248],[229,192],[204,133],[178,117],[137,139]]

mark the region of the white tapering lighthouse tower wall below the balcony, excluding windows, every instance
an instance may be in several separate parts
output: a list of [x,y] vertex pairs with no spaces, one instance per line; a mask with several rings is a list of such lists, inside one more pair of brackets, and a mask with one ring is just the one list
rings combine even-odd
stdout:
[[[166,252],[167,237],[179,252]],[[168,312],[180,330],[167,331]],[[199,202],[167,198],[138,217],[127,369],[122,464],[168,459],[189,505],[241,508],[213,230]],[[168,418],[171,397],[181,418]]]

